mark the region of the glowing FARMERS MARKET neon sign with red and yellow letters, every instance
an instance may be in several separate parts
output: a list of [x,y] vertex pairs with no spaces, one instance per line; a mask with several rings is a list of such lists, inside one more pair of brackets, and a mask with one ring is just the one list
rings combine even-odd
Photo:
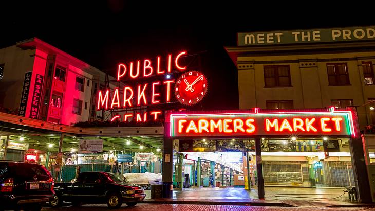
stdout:
[[[311,110],[310,110],[311,111]],[[175,112],[170,114],[171,137],[249,135],[351,135],[351,111],[317,112]]]

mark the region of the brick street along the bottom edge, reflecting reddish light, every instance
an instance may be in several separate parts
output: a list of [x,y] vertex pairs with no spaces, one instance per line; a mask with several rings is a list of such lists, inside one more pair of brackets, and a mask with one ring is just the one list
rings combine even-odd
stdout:
[[[58,210],[58,211],[96,211],[96,210],[109,210],[106,204],[94,204],[94,205],[81,205],[79,207],[61,207],[61,208],[43,208],[44,211]],[[344,208],[312,208],[312,207],[267,207],[267,206],[232,206],[232,205],[195,205],[195,204],[137,204],[135,207],[127,207],[123,205],[119,209],[115,210],[140,210],[140,211],[168,211],[168,210],[270,210],[270,211],[315,211],[315,210],[326,210],[326,211],[365,211],[375,210],[375,207],[344,207]]]

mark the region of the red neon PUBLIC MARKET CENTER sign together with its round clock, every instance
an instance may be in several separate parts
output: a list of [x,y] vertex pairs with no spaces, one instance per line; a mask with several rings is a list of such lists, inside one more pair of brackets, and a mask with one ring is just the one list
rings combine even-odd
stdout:
[[[128,110],[128,108],[147,106],[147,111],[144,113],[132,111],[123,115],[115,115],[110,119],[110,121],[128,122],[135,120],[135,122],[146,122],[162,118],[163,112],[159,105],[162,104],[163,108],[165,104],[172,102],[173,96],[171,93],[175,93],[176,99],[181,98],[181,101],[182,94],[189,95],[189,97],[184,97],[183,100],[187,104],[200,101],[207,90],[207,81],[202,74],[188,71],[187,66],[184,66],[181,57],[185,57],[187,54],[186,51],[181,51],[179,54],[168,54],[163,58],[158,56],[154,59],[118,64],[117,81],[124,81],[124,83],[119,84],[126,85],[114,87],[111,90],[100,90],[97,95],[96,109]],[[171,78],[172,73],[182,71],[188,72],[185,72],[181,79]],[[182,87],[183,90],[180,89]],[[149,109],[150,106],[159,108]]]

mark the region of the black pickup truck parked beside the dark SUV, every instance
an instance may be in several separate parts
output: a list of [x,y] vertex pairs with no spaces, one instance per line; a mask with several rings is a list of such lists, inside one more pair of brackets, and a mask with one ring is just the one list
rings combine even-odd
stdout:
[[122,203],[135,206],[146,196],[142,187],[125,183],[109,172],[79,173],[75,182],[55,183],[54,191],[49,202],[52,207],[72,202],[73,205],[107,203],[109,208],[119,208]]

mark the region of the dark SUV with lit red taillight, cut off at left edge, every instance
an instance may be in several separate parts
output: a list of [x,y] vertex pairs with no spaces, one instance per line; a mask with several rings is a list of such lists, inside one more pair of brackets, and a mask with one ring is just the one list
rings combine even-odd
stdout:
[[54,196],[53,185],[42,165],[0,161],[0,210],[41,210]]

